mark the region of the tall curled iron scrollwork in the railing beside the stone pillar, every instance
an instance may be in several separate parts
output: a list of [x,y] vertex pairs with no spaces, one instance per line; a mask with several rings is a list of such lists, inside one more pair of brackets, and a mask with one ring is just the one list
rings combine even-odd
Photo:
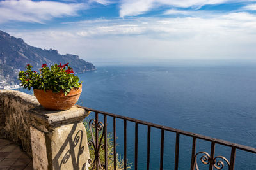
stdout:
[[[92,128],[97,128],[97,131],[95,131],[95,133],[99,132],[99,134],[101,134],[100,136],[100,140],[97,142],[94,135],[93,135],[93,129]],[[100,159],[99,159],[99,152],[100,152],[100,149],[104,150],[105,149],[105,146],[101,143],[102,142],[102,139],[104,137],[104,124],[102,124],[101,122],[97,122],[97,125],[96,125],[96,121],[94,119],[91,119],[89,121],[89,129],[90,129],[90,132],[92,134],[92,140],[88,141],[88,145],[89,146],[92,146],[93,149],[94,149],[94,159],[89,159],[88,160],[88,163],[89,164],[93,164],[93,168],[95,167],[95,164],[98,164],[98,166],[100,167],[100,169],[105,169],[105,165],[104,164],[101,164],[100,162]],[[98,135],[98,134],[97,134]]]

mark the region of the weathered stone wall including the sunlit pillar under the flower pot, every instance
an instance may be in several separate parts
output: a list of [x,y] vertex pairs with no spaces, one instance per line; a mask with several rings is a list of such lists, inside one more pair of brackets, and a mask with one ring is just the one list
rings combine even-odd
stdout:
[[34,169],[88,169],[83,108],[47,111],[31,96],[0,90],[0,136],[22,145]]

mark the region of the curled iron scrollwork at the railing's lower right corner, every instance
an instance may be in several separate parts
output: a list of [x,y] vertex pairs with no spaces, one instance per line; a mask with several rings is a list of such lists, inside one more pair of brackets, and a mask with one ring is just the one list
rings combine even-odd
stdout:
[[[211,156],[209,155],[209,153],[207,152],[198,152],[196,153],[195,155],[195,166],[196,166],[196,169],[199,170],[198,168],[198,164],[197,164],[197,161],[196,161],[196,157],[197,155],[199,154],[204,154],[202,155],[202,157],[200,158],[201,162],[205,165],[209,164],[209,163],[212,163],[212,165],[216,168],[216,169],[223,169],[224,167],[224,162],[223,160],[228,164],[228,167],[230,167],[230,162],[228,161],[228,159],[226,159],[225,157],[223,156],[217,156],[217,157],[214,157],[213,159],[211,158]],[[220,160],[222,159],[222,160]]]

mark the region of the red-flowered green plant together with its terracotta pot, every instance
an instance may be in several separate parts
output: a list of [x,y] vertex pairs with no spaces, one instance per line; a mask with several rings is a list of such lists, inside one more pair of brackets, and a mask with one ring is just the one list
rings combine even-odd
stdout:
[[33,88],[36,99],[47,110],[68,110],[76,104],[82,92],[82,84],[73,69],[67,64],[43,64],[40,73],[32,71],[28,64],[19,72],[20,84],[24,89]]

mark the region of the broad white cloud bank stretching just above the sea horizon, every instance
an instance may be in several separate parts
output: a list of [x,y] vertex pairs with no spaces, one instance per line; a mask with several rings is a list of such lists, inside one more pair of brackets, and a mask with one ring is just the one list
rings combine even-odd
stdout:
[[86,60],[253,59],[256,15],[129,18],[63,24],[59,29],[6,31],[29,45],[74,53]]

